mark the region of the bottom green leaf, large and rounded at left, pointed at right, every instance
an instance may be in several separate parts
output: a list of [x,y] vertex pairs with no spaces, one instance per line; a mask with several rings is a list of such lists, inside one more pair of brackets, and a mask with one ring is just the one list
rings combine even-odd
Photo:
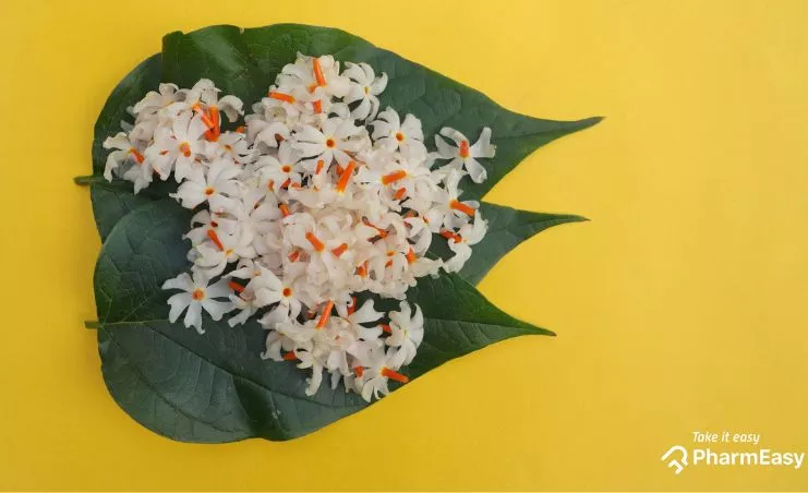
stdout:
[[[168,322],[165,279],[188,269],[181,239],[190,213],[156,201],[110,232],[95,273],[98,347],[114,400],[144,426],[185,442],[288,440],[367,406],[327,378],[313,397],[305,372],[263,361],[265,332],[231,328],[205,315],[206,333]],[[425,337],[407,369],[420,376],[454,358],[521,335],[548,335],[492,305],[458,276],[421,279],[408,293],[421,305]]]

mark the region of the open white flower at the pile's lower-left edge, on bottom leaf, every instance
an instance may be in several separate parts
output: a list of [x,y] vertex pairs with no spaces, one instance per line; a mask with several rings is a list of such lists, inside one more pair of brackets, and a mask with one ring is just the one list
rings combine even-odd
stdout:
[[168,299],[171,310],[168,320],[177,322],[182,312],[188,310],[183,323],[185,327],[195,327],[196,332],[204,334],[202,329],[202,310],[204,309],[214,321],[221,320],[222,315],[230,310],[232,305],[229,301],[217,301],[214,298],[227,298],[231,290],[224,279],[208,286],[209,277],[202,272],[194,272],[193,277],[185,273],[166,280],[162,289],[180,289],[183,292],[173,294]]

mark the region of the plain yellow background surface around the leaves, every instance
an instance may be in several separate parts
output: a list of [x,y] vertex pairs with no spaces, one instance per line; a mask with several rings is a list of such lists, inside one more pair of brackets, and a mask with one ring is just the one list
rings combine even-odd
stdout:
[[[174,29],[348,29],[547,118],[489,195],[593,220],[481,289],[559,336],[480,351],[288,443],[173,443],[104,386],[93,123]],[[808,1],[0,0],[0,489],[808,489],[660,461],[695,430],[808,452]],[[496,129],[494,129],[496,132]],[[743,449],[740,447],[735,449]]]

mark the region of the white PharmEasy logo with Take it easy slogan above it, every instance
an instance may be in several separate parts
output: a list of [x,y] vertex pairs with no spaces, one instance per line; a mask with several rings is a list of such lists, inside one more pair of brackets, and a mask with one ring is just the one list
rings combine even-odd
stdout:
[[784,452],[763,447],[746,450],[726,449],[757,447],[759,443],[759,433],[694,432],[695,445],[689,450],[682,445],[674,445],[662,455],[662,461],[673,469],[675,474],[682,473],[688,466],[791,467],[794,469],[803,467],[804,452]]

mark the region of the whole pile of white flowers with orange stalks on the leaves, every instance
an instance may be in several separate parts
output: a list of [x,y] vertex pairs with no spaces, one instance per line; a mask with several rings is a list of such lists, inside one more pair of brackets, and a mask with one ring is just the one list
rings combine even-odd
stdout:
[[[388,380],[407,382],[398,370],[415,357],[423,315],[405,293],[419,277],[459,270],[485,235],[458,184],[485,180],[477,158],[494,146],[487,128],[474,144],[444,128],[450,143],[435,135],[427,152],[418,118],[378,111],[386,85],[366,63],[340,72],[331,56],[299,55],[233,130],[221,113],[233,123],[243,104],[208,80],[161,84],[131,109],[134,125],[104,143],[114,149],[105,177],[137,193],[173,173],[171,196],[197,211],[184,236],[191,274],[164,285],[182,291],[168,300],[171,322],[185,312],[203,333],[202,310],[215,321],[238,311],[231,326],[260,317],[262,357],[311,369],[307,395],[323,370],[369,401]],[[436,160],[448,163],[432,169]],[[453,257],[425,256],[435,233]],[[361,291],[402,300],[400,310],[357,306]]]

